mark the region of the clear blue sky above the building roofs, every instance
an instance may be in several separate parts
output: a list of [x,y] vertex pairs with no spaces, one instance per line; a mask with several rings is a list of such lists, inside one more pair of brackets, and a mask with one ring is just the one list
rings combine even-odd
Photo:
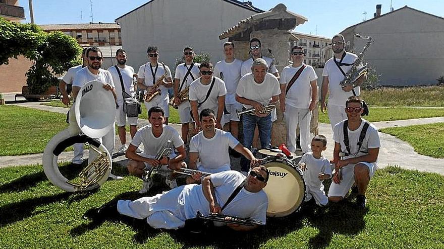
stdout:
[[[332,37],[345,28],[362,22],[365,19],[365,14],[363,14],[365,12],[367,13],[367,20],[373,18],[377,4],[382,5],[381,14],[390,11],[392,2],[392,7],[395,10],[407,5],[439,17],[444,16],[443,0],[250,1],[255,7],[264,11],[283,3],[288,10],[308,18],[308,22],[296,28],[297,32],[326,37]],[[147,2],[148,0],[92,0],[94,22],[112,23],[116,18]],[[28,1],[20,0],[19,4],[25,8],[26,20],[24,22],[30,22]],[[82,19],[83,23],[91,22],[90,0],[34,0],[33,9],[36,24],[82,23]]]

